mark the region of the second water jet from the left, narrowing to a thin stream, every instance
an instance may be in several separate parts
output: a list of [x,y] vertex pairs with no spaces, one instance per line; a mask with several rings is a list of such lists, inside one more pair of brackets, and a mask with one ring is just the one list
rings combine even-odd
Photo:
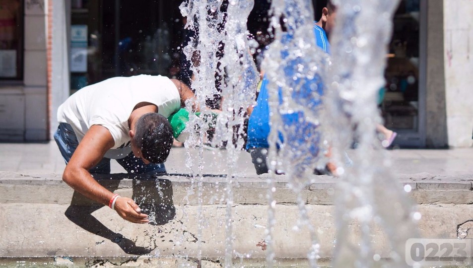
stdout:
[[253,9],[253,0],[230,0],[225,23],[225,40],[222,68],[231,73],[222,88],[222,112],[218,116],[213,143],[226,142],[226,241],[225,267],[231,268],[233,256],[232,205],[233,171],[243,148],[244,120],[246,110],[255,100],[259,74],[247,41],[249,32],[246,22]]

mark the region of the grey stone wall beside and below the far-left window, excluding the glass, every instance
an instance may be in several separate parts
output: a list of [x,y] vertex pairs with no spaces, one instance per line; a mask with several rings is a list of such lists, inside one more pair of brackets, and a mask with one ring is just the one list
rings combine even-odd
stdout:
[[48,140],[48,0],[24,0],[23,81],[0,84],[0,140]]

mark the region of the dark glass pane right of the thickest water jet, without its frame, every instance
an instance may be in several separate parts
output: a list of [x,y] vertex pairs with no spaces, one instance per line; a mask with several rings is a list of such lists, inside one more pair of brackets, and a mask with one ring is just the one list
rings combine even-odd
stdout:
[[386,127],[398,131],[417,131],[419,127],[419,2],[402,0],[394,15],[386,84],[380,91]]

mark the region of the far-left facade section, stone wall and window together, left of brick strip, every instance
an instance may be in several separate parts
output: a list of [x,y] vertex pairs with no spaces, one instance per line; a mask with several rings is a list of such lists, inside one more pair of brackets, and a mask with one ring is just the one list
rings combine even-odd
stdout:
[[0,139],[49,139],[48,6],[0,0]]

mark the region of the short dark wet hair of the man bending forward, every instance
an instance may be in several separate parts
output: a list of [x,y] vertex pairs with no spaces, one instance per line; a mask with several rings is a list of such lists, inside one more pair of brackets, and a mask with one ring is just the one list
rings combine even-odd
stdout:
[[144,159],[151,163],[163,163],[172,147],[171,124],[158,113],[147,113],[136,121],[134,138]]

